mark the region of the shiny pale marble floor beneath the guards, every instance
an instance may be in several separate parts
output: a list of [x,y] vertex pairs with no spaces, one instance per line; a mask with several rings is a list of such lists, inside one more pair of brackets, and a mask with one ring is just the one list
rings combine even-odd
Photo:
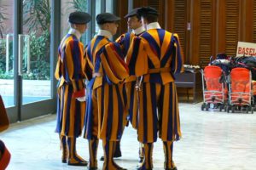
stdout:
[[[180,104],[183,139],[174,144],[178,170],[256,169],[256,113],[201,111],[201,104]],[[18,122],[2,139],[12,153],[9,170],[79,170],[61,163],[61,150],[55,130],[55,115]],[[137,133],[125,128],[121,142],[123,156],[116,161],[129,170],[137,167]],[[88,143],[78,139],[78,151],[88,159]],[[102,156],[102,144],[98,158]],[[154,144],[154,169],[163,169],[160,140]],[[99,161],[102,167],[102,161]]]

